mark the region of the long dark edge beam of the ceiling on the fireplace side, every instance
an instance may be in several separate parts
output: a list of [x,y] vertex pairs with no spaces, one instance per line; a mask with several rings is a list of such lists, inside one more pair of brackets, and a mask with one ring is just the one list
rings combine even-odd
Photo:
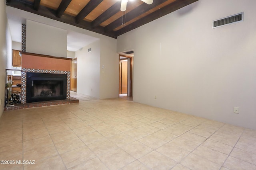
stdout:
[[96,33],[100,33],[102,35],[106,35],[108,37],[116,38],[115,32],[104,32],[104,27],[98,26],[95,29],[92,29],[91,23],[88,21],[82,20],[79,24],[76,23],[76,18],[70,15],[63,14],[61,18],[56,17],[56,10],[52,10],[50,8],[40,6],[40,11],[36,11],[33,8],[33,5],[27,4],[27,3],[20,3],[20,0],[11,0],[8,4],[8,6],[11,6],[13,8],[17,8],[20,10],[24,10],[27,12],[31,12],[33,14],[37,14],[40,16],[44,16],[56,21],[64,22],[70,25],[74,25],[76,27],[80,27],[83,29],[87,29],[89,31],[94,31]]

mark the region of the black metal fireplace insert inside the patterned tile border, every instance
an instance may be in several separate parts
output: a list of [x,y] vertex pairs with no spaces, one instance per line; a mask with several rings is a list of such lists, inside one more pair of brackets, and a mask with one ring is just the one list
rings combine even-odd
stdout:
[[67,74],[27,72],[26,83],[27,103],[67,98]]

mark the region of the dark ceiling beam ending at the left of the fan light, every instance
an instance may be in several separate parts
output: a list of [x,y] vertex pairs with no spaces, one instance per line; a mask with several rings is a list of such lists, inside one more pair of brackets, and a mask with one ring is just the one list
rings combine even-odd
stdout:
[[114,14],[120,11],[121,1],[116,2],[116,4],[112,5],[108,10],[103,12],[98,18],[92,21],[92,27],[95,28],[100,25],[102,22],[108,20],[108,18],[112,17]]

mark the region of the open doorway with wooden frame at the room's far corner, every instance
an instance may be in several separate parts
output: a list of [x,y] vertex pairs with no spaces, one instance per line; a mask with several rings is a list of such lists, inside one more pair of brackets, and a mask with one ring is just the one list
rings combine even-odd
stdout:
[[132,99],[132,57],[119,56],[119,97]]

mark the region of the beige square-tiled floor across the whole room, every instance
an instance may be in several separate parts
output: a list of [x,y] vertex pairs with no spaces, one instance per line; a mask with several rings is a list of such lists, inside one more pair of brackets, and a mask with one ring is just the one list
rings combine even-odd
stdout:
[[74,95],[79,104],[3,113],[0,160],[14,164],[0,164],[1,170],[256,170],[254,130],[120,98]]

